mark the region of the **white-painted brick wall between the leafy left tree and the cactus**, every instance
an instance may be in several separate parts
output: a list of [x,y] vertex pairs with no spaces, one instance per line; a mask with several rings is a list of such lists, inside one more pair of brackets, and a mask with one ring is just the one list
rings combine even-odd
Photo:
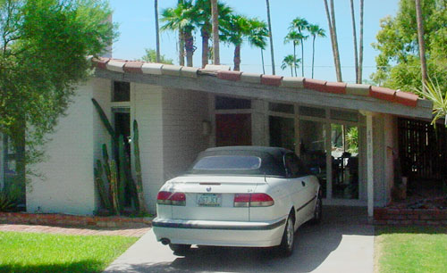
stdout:
[[27,211],[91,214],[95,210],[93,87],[89,81],[78,88],[67,115],[50,136],[47,160],[35,166],[43,177],[32,178],[27,189]]

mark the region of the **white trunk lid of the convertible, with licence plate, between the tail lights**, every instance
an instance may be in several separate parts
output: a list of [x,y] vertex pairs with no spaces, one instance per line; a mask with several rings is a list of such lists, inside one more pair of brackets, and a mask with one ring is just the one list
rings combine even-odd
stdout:
[[185,176],[171,191],[186,195],[185,206],[172,206],[173,219],[249,221],[249,207],[234,207],[235,194],[255,193],[264,177]]

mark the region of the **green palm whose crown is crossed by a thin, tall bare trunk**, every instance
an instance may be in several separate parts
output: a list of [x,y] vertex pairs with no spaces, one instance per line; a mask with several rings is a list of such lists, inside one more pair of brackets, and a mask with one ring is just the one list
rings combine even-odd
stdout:
[[[221,2],[217,3],[219,9],[219,21],[228,21],[228,16],[232,13],[232,8]],[[202,37],[202,68],[208,64],[209,39],[212,34],[212,14],[209,0],[197,0],[195,7],[197,9],[197,23]]]

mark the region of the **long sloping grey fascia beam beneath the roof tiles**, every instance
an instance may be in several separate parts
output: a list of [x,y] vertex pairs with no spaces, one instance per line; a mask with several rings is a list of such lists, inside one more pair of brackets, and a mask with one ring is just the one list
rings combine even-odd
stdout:
[[432,117],[432,103],[424,100],[419,100],[417,107],[409,107],[399,103],[381,101],[369,96],[323,93],[306,88],[269,87],[242,81],[217,79],[210,75],[200,75],[198,79],[190,79],[167,75],[120,73],[97,69],[95,76],[101,79],[204,91],[216,95],[252,97],[278,103],[306,103],[318,107],[324,106],[383,112],[410,118],[431,119]]

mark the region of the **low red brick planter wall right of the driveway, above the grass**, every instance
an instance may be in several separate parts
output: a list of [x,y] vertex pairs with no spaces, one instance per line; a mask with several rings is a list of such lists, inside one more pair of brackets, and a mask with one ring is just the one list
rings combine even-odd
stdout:
[[447,210],[375,208],[374,224],[447,226]]

